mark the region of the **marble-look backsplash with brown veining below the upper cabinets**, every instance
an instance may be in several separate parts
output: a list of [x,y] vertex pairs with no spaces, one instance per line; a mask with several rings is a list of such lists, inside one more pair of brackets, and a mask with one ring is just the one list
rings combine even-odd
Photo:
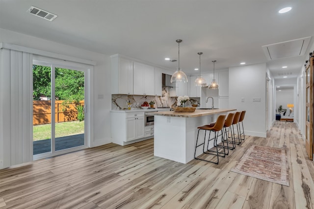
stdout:
[[[147,96],[147,95],[127,95],[127,94],[112,94],[111,95],[111,109],[123,110],[128,109],[127,101],[131,103],[132,109],[140,109],[141,105],[146,101],[155,101],[155,108],[157,107],[176,107],[177,97],[170,97],[168,89],[162,90],[163,96]],[[200,103],[200,98],[190,98],[195,103]],[[190,101],[186,102],[186,106],[191,104]],[[180,105],[180,104],[179,104]]]

